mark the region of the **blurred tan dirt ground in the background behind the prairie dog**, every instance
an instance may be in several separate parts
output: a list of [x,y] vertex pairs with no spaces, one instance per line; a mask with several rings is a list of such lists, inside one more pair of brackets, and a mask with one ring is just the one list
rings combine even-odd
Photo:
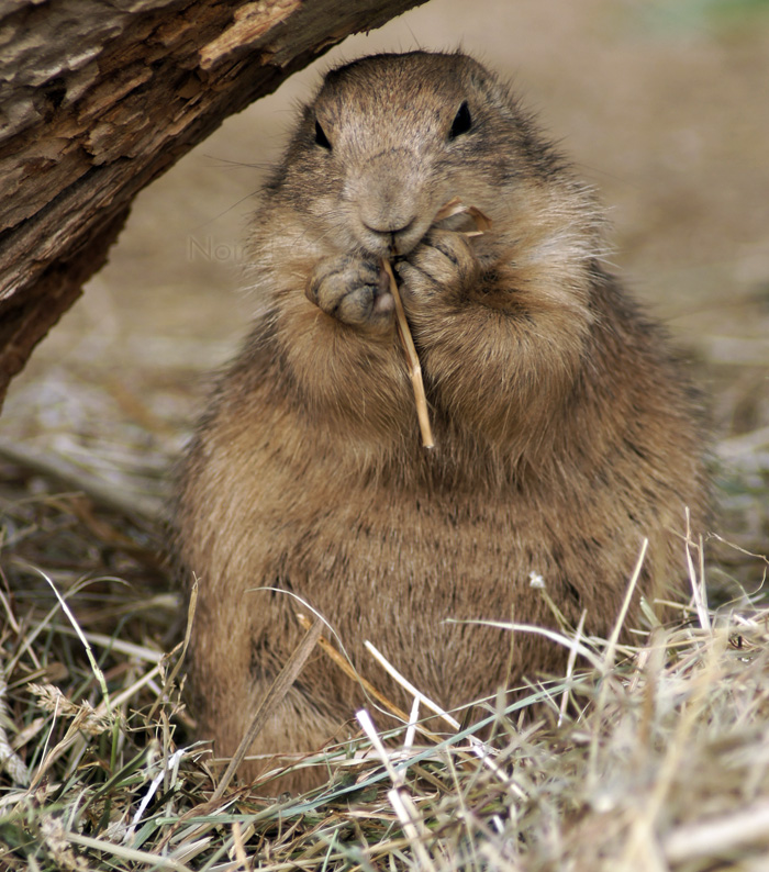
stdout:
[[431,0],[346,41],[138,198],[109,266],[12,385],[0,435],[163,492],[205,373],[246,331],[242,242],[293,105],[339,59],[458,45],[514,81],[600,190],[616,269],[691,354],[732,469],[766,485],[766,0]]

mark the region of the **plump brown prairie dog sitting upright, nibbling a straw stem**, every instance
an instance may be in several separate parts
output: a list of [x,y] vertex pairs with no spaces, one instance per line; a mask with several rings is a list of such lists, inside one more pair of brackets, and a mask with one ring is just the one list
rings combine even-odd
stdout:
[[[455,197],[491,227],[436,225]],[[325,77],[265,187],[258,313],[178,491],[176,550],[187,583],[200,580],[193,714],[218,753],[235,750],[303,635],[307,610],[257,589],[307,600],[397,702],[366,639],[449,708],[562,669],[565,651],[532,634],[510,667],[510,634],[467,623],[555,626],[532,573],[598,635],[644,537],[639,590],[680,583],[686,507],[696,529],[706,503],[698,402],[604,270],[601,231],[590,190],[471,58],[379,55]],[[316,750],[361,702],[317,650],[252,750]]]

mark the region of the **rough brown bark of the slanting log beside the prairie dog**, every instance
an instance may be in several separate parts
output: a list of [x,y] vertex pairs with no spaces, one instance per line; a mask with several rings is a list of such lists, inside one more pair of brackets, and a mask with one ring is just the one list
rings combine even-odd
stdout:
[[136,193],[347,34],[424,0],[0,0],[0,405]]

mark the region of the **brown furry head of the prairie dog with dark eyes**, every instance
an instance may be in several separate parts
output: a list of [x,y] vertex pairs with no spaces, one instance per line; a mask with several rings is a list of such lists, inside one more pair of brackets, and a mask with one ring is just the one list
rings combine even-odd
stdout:
[[324,246],[370,257],[408,255],[455,197],[499,227],[555,209],[559,236],[593,212],[508,90],[461,54],[375,55],[328,72],[270,188]]

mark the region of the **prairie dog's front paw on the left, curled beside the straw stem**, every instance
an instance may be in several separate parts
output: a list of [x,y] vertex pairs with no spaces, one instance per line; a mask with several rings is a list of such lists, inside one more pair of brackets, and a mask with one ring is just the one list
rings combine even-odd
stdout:
[[394,301],[378,260],[339,255],[321,260],[308,280],[308,299],[353,327],[386,333],[392,328]]

